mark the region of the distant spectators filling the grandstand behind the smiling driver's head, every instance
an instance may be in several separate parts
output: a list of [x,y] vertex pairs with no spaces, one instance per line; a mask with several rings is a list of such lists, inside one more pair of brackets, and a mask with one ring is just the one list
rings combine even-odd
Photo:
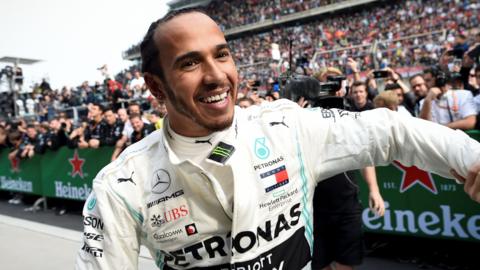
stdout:
[[[321,7],[340,1],[211,1],[207,12],[224,29],[255,24],[282,15]],[[279,25],[259,34],[229,40],[240,76],[252,75],[264,83],[276,80],[289,70],[338,66],[344,73],[348,58],[362,69],[374,67],[429,66],[462,33],[474,36],[480,22],[477,0],[379,1],[355,10],[320,15],[293,26]],[[452,16],[455,14],[455,16]],[[278,45],[273,57],[272,45]],[[138,52],[138,45],[128,53]]]

